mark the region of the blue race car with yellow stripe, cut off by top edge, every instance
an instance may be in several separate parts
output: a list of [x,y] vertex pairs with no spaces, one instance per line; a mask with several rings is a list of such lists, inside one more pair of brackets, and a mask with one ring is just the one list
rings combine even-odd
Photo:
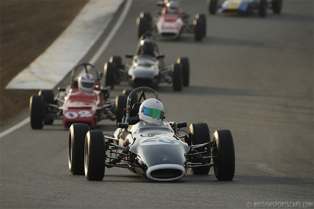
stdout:
[[218,12],[228,14],[247,14],[258,11],[260,17],[267,15],[267,9],[271,8],[274,13],[279,14],[282,10],[282,0],[225,0],[221,4],[218,4],[218,0],[208,0],[208,12],[210,14],[216,14]]

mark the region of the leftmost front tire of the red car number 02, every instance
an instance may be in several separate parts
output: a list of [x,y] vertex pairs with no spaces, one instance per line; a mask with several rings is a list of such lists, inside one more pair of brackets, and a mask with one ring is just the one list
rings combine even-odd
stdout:
[[44,127],[44,97],[33,95],[30,97],[30,127],[42,129]]

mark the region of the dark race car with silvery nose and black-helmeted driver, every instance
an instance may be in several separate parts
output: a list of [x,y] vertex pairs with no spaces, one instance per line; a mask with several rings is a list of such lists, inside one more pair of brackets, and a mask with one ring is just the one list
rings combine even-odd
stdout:
[[165,66],[165,55],[159,53],[155,38],[151,33],[145,33],[138,42],[135,55],[126,55],[132,59],[132,64],[122,64],[120,56],[112,56],[105,63],[105,86],[114,87],[121,81],[128,82],[134,88],[149,86],[155,88],[161,82],[172,83],[175,91],[181,91],[183,86],[189,86],[190,64],[187,57],[178,58],[176,63]]

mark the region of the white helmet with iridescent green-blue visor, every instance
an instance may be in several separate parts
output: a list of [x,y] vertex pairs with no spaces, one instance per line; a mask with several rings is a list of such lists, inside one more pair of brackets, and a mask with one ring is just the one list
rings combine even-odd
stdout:
[[164,106],[157,99],[147,99],[139,107],[138,117],[147,123],[160,124],[164,119]]

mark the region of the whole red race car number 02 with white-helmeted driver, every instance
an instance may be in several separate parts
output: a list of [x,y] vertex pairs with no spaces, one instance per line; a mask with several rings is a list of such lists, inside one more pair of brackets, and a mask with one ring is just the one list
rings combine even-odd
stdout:
[[[75,71],[82,66],[85,72],[75,80]],[[91,69],[95,70],[95,79],[89,73]],[[127,96],[119,95],[108,100],[111,88],[100,86],[102,76],[103,72],[98,72],[94,65],[81,63],[73,68],[68,87],[59,87],[60,94],[56,97],[52,90],[40,90],[38,95],[31,96],[31,127],[42,129],[44,124],[51,125],[55,119],[62,119],[64,128],[70,128],[73,123],[87,123],[89,128],[94,128],[102,119],[121,122]]]

